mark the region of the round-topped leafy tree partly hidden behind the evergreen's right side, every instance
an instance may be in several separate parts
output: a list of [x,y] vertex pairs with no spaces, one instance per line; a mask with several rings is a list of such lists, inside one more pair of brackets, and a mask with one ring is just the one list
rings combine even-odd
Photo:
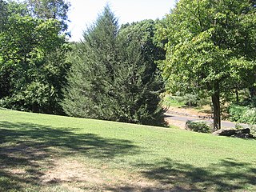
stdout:
[[125,38],[129,42],[137,42],[140,47],[143,62],[146,66],[146,71],[142,75],[142,81],[144,83],[150,82],[148,86],[151,86],[148,88],[151,91],[144,94],[142,100],[147,101],[147,110],[150,113],[162,108],[159,106],[161,102],[159,94],[164,91],[164,82],[155,63],[155,61],[165,58],[165,51],[154,43],[156,23],[153,20],[143,20],[131,24],[127,23],[122,25],[119,30],[119,36],[122,36],[122,38]]

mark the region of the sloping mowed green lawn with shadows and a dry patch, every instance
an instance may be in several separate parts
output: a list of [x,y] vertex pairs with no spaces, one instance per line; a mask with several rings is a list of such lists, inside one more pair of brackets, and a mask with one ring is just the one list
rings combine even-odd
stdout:
[[0,110],[0,191],[256,191],[256,141]]

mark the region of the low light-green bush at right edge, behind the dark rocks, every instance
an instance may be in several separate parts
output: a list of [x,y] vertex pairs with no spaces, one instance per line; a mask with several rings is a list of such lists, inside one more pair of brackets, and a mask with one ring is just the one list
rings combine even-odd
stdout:
[[256,124],[256,108],[231,105],[228,112],[231,121]]

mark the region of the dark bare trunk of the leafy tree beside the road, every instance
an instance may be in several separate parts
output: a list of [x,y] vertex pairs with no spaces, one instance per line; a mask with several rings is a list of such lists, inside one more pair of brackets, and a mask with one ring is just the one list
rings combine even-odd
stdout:
[[214,86],[214,94],[211,95],[214,106],[214,131],[221,129],[221,106],[219,102],[219,87]]

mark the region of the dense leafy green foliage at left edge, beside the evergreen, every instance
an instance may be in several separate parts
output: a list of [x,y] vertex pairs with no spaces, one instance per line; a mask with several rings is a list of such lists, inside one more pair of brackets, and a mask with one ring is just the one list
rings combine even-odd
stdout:
[[58,102],[66,82],[69,50],[58,20],[35,18],[24,3],[6,4],[0,31],[0,99],[2,106],[62,114]]

